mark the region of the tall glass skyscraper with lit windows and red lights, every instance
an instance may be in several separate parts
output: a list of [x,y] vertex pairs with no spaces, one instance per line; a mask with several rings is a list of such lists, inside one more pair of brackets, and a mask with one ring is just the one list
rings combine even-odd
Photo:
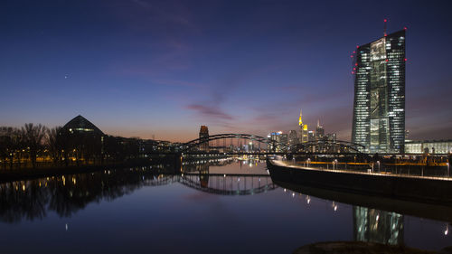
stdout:
[[403,153],[405,30],[357,46],[352,142],[367,153]]

